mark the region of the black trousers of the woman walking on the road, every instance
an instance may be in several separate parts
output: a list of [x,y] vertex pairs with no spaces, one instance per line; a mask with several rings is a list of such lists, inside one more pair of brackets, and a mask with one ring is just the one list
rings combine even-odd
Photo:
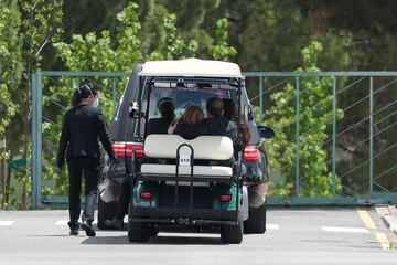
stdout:
[[[79,226],[82,179],[84,176],[86,206],[83,220],[93,222],[95,200],[98,194],[99,159],[90,157],[76,157],[68,160],[69,174],[69,218],[71,229]],[[89,203],[90,202],[90,203]]]

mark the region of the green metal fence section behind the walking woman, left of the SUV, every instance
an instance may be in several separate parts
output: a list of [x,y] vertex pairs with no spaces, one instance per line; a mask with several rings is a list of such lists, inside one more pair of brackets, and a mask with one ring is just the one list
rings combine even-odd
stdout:
[[[67,203],[67,176],[56,168],[57,138],[62,117],[69,106],[73,88],[82,81],[101,86],[101,105],[107,118],[116,110],[117,100],[127,83],[120,72],[36,72],[32,75],[32,208]],[[107,110],[107,112],[106,112]],[[54,134],[55,132],[55,134]],[[56,186],[63,189],[51,191]]]

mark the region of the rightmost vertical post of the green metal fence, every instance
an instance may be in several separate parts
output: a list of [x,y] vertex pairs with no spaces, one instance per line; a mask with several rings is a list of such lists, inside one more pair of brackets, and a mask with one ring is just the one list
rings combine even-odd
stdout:
[[374,77],[369,76],[369,199],[374,191]]

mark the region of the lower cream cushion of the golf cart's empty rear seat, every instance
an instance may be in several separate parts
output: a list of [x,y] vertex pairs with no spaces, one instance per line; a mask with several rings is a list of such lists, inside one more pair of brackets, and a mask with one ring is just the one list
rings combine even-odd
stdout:
[[[191,167],[180,167],[180,174],[190,174]],[[143,163],[141,166],[142,173],[155,173],[155,174],[175,174],[175,165],[159,165],[159,163]],[[229,167],[222,166],[194,166],[194,176],[232,176],[233,170]]]

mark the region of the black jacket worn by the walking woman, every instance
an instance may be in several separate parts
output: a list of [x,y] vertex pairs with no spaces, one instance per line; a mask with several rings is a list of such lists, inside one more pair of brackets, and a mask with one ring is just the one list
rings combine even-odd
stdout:
[[98,137],[114,159],[111,141],[106,129],[106,123],[100,109],[90,105],[79,105],[66,112],[62,125],[57,165],[63,167],[66,159],[75,157],[100,158]]

